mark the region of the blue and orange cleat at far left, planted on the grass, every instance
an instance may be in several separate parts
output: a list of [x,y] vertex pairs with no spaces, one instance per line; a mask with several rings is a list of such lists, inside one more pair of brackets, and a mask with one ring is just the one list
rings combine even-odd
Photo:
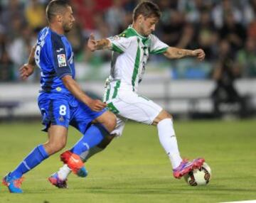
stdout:
[[21,190],[20,187],[24,180],[24,177],[20,177],[20,178],[16,178],[15,176],[11,177],[10,173],[11,172],[9,172],[9,174],[7,174],[3,178],[3,181],[2,181],[3,185],[8,187],[9,192],[11,192],[11,193],[22,193],[23,191]]

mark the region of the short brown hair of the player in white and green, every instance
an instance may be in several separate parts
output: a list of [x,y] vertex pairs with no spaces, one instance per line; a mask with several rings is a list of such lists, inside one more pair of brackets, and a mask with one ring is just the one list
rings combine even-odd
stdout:
[[154,4],[151,1],[142,1],[142,3],[138,4],[134,11],[133,11],[133,21],[136,21],[137,17],[142,14],[145,18],[149,17],[156,17],[160,18],[161,17],[161,11],[159,9],[159,6]]

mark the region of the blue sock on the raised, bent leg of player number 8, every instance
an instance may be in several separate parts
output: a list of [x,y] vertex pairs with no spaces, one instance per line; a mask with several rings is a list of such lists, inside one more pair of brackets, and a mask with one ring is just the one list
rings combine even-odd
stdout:
[[81,155],[90,148],[97,146],[105,135],[109,135],[105,127],[101,124],[93,124],[87,131],[85,131],[84,136],[82,136],[80,141],[78,141],[70,151],[77,155]]

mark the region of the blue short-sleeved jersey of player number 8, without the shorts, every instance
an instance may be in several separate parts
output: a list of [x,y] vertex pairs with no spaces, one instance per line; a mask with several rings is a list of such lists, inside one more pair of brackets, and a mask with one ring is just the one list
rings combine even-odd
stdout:
[[41,92],[70,93],[61,80],[65,75],[75,79],[73,51],[65,35],[43,28],[38,34],[35,60],[41,69]]

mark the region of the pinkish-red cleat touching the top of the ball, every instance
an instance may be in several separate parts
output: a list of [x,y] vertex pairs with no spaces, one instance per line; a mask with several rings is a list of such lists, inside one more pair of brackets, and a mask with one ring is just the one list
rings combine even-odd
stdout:
[[196,158],[191,162],[188,162],[188,160],[183,160],[181,164],[174,169],[174,177],[181,178],[183,177],[183,175],[186,175],[191,170],[201,168],[204,161],[205,160],[203,158]]

